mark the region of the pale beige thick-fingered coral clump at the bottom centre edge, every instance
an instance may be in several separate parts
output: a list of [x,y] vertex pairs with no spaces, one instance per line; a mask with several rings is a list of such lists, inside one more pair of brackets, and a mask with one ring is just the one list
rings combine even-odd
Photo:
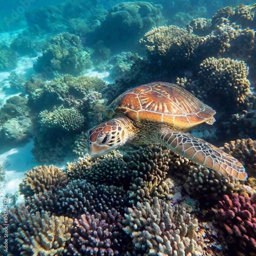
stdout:
[[165,255],[201,255],[198,221],[185,209],[154,198],[127,208],[124,231],[133,238],[135,252]]

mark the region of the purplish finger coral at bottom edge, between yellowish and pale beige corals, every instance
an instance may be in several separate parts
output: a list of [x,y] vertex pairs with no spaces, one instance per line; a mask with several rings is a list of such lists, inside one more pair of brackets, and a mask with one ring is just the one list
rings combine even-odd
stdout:
[[127,251],[130,239],[122,231],[116,210],[83,214],[74,220],[68,255],[117,255]]

